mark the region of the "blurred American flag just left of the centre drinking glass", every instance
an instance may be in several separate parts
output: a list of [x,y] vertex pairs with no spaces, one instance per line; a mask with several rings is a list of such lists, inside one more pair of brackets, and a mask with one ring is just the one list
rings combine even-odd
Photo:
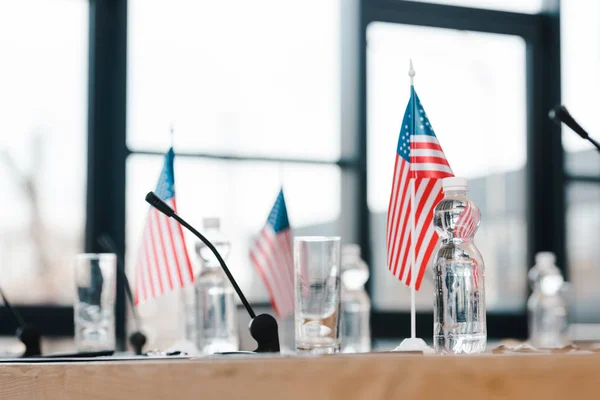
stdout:
[[293,312],[292,232],[283,189],[279,191],[267,223],[250,250],[250,259],[265,283],[277,316],[285,317]]

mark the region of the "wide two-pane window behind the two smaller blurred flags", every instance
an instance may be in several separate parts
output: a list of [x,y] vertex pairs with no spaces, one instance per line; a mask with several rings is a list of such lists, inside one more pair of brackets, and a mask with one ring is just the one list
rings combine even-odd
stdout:
[[[129,1],[130,271],[171,125],[179,212],[196,226],[221,217],[228,264],[254,304],[269,299],[248,251],[281,184],[296,234],[341,233],[339,13],[337,0]],[[156,303],[140,309],[145,321],[176,325],[178,295]]]

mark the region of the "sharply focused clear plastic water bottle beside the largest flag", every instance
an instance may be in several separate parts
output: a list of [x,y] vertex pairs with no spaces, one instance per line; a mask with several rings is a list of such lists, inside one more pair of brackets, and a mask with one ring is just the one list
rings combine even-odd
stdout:
[[467,198],[466,179],[445,178],[442,189],[433,219],[441,238],[433,258],[433,345],[439,353],[481,353],[487,340],[485,267],[473,242],[481,214]]

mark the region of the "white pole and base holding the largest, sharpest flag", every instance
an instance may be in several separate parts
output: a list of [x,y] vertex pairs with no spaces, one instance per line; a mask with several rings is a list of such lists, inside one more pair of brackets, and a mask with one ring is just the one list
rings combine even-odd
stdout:
[[[410,77],[410,86],[414,86],[414,78],[415,78],[415,69],[412,65],[412,60],[410,60],[410,66],[408,69],[408,76]],[[411,93],[412,96],[412,93]],[[414,98],[411,98],[414,100]],[[414,106],[414,103],[413,103]],[[411,111],[410,117],[412,118],[412,134],[415,133],[415,118],[414,108]],[[412,141],[412,137],[410,138]],[[410,148],[409,148],[410,150]],[[411,154],[409,154],[409,157]],[[415,252],[415,177],[412,171],[412,163],[411,163],[411,178],[410,178],[410,339],[404,339],[400,346],[396,347],[394,351],[421,351],[423,353],[433,353],[433,349],[427,346],[427,343],[421,338],[417,337],[417,318],[416,318],[416,301],[415,301],[415,293],[416,293],[416,282],[417,276],[415,274],[415,264],[416,264],[416,252]]]

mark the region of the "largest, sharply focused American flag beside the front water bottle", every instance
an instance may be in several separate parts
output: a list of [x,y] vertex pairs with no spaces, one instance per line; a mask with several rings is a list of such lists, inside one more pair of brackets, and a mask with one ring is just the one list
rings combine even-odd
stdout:
[[414,262],[416,290],[438,241],[433,209],[443,198],[442,178],[449,176],[454,176],[452,169],[411,86],[396,149],[386,236],[388,268],[410,286]]

